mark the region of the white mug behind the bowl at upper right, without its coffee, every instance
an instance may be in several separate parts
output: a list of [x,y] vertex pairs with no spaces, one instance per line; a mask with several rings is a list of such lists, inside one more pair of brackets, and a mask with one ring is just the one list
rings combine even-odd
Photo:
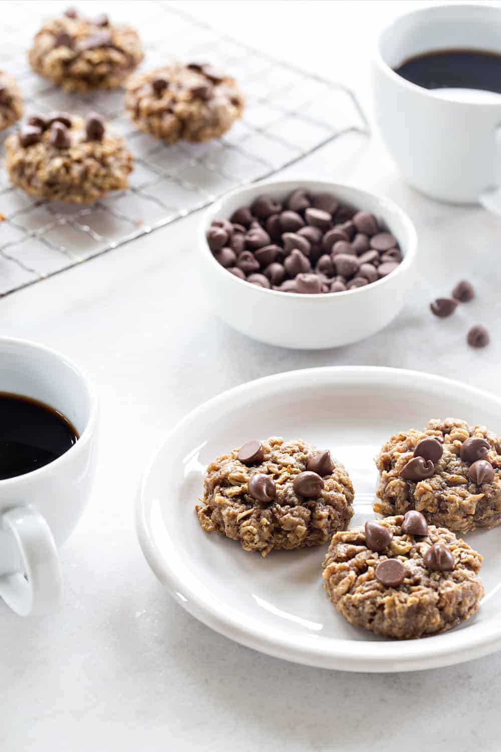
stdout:
[[394,20],[373,62],[376,123],[403,177],[433,199],[475,203],[499,184],[501,95],[424,89],[394,72],[433,50],[501,53],[501,8],[444,5]]

